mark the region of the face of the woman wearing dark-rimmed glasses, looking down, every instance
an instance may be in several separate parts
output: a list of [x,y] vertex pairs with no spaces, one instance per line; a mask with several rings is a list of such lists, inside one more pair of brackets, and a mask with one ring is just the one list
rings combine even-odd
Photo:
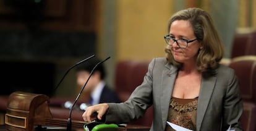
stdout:
[[[193,29],[188,20],[175,20],[171,23],[169,36],[175,40],[194,40],[196,37],[194,35]],[[179,41],[178,41],[179,42]],[[198,55],[198,49],[200,44],[198,40],[195,40],[187,44],[187,48],[179,48],[176,42],[173,46],[170,46],[171,53],[176,61],[186,63],[195,62]]]

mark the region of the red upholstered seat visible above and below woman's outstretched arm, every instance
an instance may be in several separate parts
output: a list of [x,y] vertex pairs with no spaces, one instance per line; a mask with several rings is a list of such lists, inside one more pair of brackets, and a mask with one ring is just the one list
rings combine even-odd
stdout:
[[[148,61],[120,61],[116,67],[116,91],[121,101],[126,101],[132,91],[143,82],[148,70]],[[132,124],[150,126],[153,119],[153,107],[148,108],[145,115]]]

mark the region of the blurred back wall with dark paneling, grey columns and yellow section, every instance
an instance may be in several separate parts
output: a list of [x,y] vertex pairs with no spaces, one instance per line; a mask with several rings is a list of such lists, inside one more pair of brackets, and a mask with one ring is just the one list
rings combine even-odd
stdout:
[[114,87],[116,64],[164,56],[169,17],[187,7],[208,11],[231,57],[234,34],[256,28],[256,0],[0,0],[1,94],[32,91],[76,96],[75,73],[85,57],[105,62]]

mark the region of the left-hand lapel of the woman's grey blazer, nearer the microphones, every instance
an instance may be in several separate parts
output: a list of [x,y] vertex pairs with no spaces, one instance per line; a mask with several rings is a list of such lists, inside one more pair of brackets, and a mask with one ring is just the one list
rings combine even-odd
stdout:
[[161,82],[161,114],[162,114],[162,124],[163,127],[166,125],[166,120],[168,118],[169,103],[171,99],[171,94],[173,93],[173,86],[177,76],[177,68],[171,67],[166,64],[166,68],[162,73]]

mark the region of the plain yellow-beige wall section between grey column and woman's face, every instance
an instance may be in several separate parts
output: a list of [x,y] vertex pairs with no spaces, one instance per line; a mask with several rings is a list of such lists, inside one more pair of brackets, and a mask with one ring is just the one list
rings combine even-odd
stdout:
[[122,59],[150,60],[164,56],[163,36],[171,15],[171,1],[119,1],[116,53]]

